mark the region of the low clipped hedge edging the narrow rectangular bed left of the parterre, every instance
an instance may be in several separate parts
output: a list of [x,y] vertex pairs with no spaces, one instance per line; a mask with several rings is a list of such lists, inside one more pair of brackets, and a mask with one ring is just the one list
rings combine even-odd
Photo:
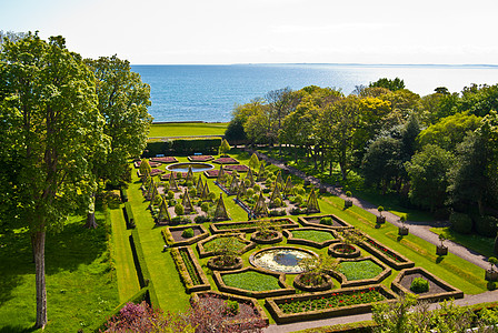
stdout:
[[[187,255],[190,259],[191,263],[193,264],[193,269],[196,270],[196,273],[199,275],[199,279],[202,282],[201,284],[193,284],[192,278],[190,276],[190,273],[186,266],[183,258],[180,254],[180,251],[183,250],[187,251]],[[177,271],[180,274],[181,281],[183,282],[185,289],[187,290],[187,293],[211,289],[208,276],[206,276],[205,271],[200,266],[199,261],[197,260],[190,246],[171,249],[171,256],[173,259],[175,265],[177,266]]]

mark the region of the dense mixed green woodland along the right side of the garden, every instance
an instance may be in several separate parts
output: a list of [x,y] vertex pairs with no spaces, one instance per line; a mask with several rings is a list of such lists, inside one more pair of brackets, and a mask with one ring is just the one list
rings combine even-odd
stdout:
[[[310,85],[281,89],[236,107],[231,142],[290,145],[316,169],[351,171],[367,186],[394,192],[448,218],[496,215],[498,84],[420,97],[400,79],[380,79],[349,95]],[[302,155],[303,154],[303,155]],[[479,230],[496,234],[496,220]],[[476,222],[476,221],[475,221]]]

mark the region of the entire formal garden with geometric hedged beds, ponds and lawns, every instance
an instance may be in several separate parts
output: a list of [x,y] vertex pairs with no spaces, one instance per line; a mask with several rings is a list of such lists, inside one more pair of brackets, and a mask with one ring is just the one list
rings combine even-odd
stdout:
[[[207,165],[196,171],[192,162]],[[135,165],[122,223],[152,306],[185,311],[216,295],[282,324],[371,312],[397,295],[437,302],[487,289],[482,269],[438,255],[255,154],[232,149]],[[221,321],[236,323],[231,303],[221,304]]]

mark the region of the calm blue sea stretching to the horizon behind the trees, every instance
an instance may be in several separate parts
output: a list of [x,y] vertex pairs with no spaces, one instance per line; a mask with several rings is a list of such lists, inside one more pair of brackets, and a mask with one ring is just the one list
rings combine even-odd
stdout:
[[446,87],[460,92],[471,83],[498,83],[495,65],[371,64],[228,64],[132,65],[150,84],[149,113],[159,121],[227,122],[235,105],[286,87],[331,87],[345,94],[379,78],[400,78],[411,91],[427,95]]

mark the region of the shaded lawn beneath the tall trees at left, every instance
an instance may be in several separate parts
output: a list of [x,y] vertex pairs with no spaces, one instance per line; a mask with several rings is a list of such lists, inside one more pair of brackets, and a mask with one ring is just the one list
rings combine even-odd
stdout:
[[[118,304],[116,271],[110,260],[104,213],[96,213],[99,228],[83,228],[72,216],[60,233],[48,233],[46,279],[48,325],[43,332],[92,330]],[[0,251],[0,332],[32,332],[36,321],[34,265],[29,235],[2,235]]]

